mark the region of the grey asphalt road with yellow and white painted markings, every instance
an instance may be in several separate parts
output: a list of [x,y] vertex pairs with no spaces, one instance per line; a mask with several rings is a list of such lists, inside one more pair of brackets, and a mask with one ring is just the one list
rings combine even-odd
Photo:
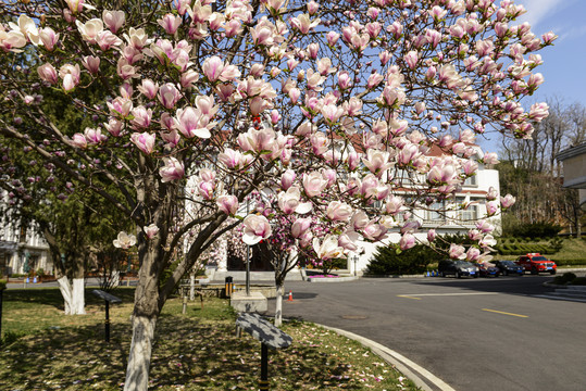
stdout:
[[547,280],[288,282],[283,313],[374,340],[458,391],[584,391],[586,303],[537,298]]

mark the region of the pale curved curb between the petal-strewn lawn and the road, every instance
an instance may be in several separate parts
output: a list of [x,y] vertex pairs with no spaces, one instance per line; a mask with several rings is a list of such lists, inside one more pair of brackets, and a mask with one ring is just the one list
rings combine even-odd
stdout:
[[[397,370],[399,370],[401,374],[403,374],[409,379],[411,379],[415,383],[415,386],[417,386],[424,391],[437,391],[437,390],[456,391],[448,383],[439,379],[437,376],[435,376],[427,369],[421,367],[420,365],[413,363],[411,360],[407,358],[406,356],[395,352],[391,349],[388,349],[387,346],[382,345],[378,342],[372,341],[357,333],[338,329],[335,327],[329,327],[329,326],[320,325],[320,324],[315,324],[315,325],[323,327],[325,329],[335,331],[340,336],[354,340],[361,343],[362,345],[370,348],[376,355],[385,360],[387,363],[394,365],[397,368]],[[425,381],[424,379],[427,381]]]

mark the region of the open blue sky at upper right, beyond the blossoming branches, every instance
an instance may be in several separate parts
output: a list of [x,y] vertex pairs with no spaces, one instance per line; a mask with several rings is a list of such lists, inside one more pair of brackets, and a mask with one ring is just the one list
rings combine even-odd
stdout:
[[[552,47],[539,51],[544,64],[535,72],[544,75],[545,83],[524,99],[525,109],[553,96],[566,104],[586,105],[586,0],[516,0],[515,3],[527,10],[519,23],[528,22],[538,37],[547,31],[559,37]],[[490,141],[479,138],[479,144],[486,151],[498,152],[498,137],[489,138]]]

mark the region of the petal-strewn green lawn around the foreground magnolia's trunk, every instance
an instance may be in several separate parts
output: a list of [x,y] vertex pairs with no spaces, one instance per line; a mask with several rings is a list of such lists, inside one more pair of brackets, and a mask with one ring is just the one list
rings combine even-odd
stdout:
[[[65,316],[57,289],[3,292],[0,384],[3,390],[121,390],[130,342],[134,290],[112,292],[111,342],[104,342],[103,302],[86,292],[87,315]],[[257,390],[260,343],[235,335],[227,301],[171,299],[157,325],[152,390]],[[287,323],[294,338],[270,351],[271,390],[416,390],[369,349],[312,324]]]

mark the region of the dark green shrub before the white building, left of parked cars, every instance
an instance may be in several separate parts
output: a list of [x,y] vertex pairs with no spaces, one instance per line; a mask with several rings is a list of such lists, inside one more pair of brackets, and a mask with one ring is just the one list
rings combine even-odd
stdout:
[[424,244],[417,244],[399,254],[392,247],[379,245],[366,268],[366,274],[384,276],[425,273],[427,265],[437,263],[444,257]]

